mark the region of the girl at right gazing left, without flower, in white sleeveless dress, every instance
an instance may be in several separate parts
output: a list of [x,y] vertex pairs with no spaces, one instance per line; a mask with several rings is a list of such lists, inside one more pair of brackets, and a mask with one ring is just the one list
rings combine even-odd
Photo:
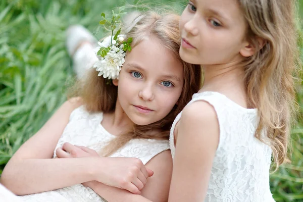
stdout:
[[170,136],[169,201],[274,201],[269,173],[287,159],[298,64],[295,1],[191,0],[181,58],[204,85]]

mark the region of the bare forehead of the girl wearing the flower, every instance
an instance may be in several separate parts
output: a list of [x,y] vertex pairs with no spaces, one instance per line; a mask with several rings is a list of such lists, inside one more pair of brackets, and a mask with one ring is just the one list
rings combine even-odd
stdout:
[[183,78],[183,65],[180,60],[156,38],[146,38],[132,48],[125,58],[125,64],[133,62],[145,71],[174,74]]

